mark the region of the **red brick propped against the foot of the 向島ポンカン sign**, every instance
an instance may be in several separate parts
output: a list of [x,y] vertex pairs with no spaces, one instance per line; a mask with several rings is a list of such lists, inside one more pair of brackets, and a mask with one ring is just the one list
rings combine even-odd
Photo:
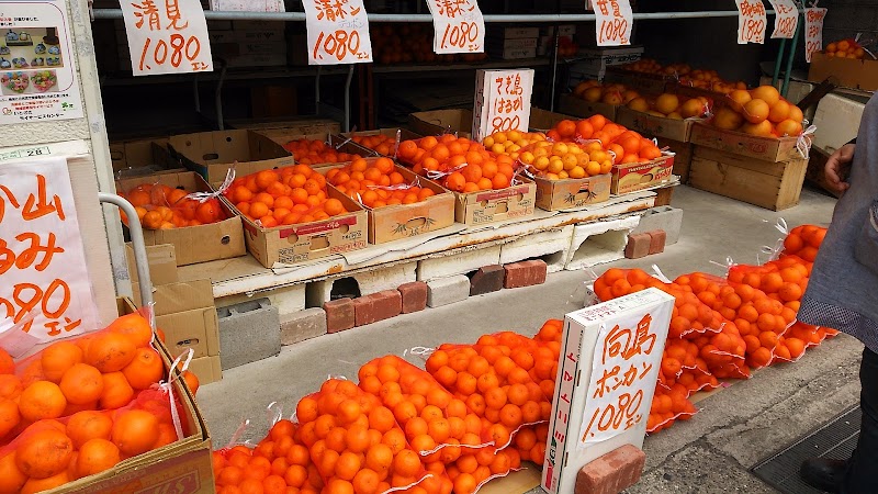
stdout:
[[576,475],[574,494],[618,494],[640,480],[646,454],[624,445],[583,467]]

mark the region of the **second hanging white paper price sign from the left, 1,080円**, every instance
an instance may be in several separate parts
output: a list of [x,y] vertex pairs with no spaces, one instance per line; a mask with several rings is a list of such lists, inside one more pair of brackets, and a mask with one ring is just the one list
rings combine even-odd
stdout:
[[308,64],[372,61],[372,40],[363,0],[303,0]]

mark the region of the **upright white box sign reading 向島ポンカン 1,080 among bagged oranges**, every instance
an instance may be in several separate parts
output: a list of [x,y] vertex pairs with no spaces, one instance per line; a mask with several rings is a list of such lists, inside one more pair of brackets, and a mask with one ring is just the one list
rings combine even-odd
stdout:
[[[576,474],[590,461],[622,445],[643,447],[673,310],[673,296],[646,289],[564,317],[566,350],[542,471],[547,492],[572,493]],[[629,368],[646,370],[605,383],[614,368],[620,377]]]

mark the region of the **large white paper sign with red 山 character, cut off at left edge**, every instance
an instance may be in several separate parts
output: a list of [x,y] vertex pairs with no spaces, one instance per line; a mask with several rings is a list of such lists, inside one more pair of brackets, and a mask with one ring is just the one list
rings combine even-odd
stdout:
[[79,232],[65,158],[0,167],[0,322],[33,317],[41,341],[99,327]]

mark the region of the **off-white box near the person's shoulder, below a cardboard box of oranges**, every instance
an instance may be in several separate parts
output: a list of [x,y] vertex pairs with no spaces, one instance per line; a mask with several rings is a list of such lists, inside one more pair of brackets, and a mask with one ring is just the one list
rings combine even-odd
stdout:
[[812,146],[832,154],[857,136],[865,103],[830,93],[820,100],[814,114],[817,132]]

